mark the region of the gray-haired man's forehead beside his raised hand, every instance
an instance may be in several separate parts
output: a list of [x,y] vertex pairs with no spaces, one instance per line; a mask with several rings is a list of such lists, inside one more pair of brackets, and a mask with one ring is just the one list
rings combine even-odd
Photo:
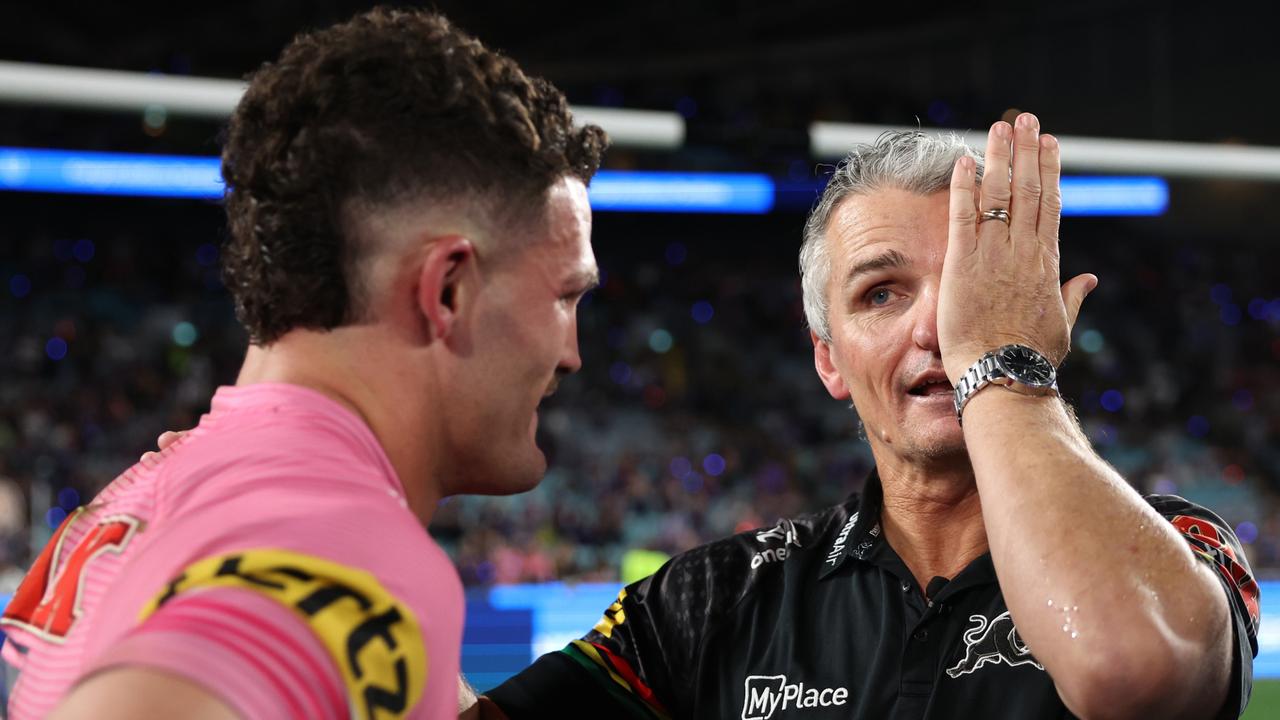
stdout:
[[832,263],[844,265],[884,250],[946,249],[947,191],[918,195],[899,188],[878,188],[851,195],[827,224]]

